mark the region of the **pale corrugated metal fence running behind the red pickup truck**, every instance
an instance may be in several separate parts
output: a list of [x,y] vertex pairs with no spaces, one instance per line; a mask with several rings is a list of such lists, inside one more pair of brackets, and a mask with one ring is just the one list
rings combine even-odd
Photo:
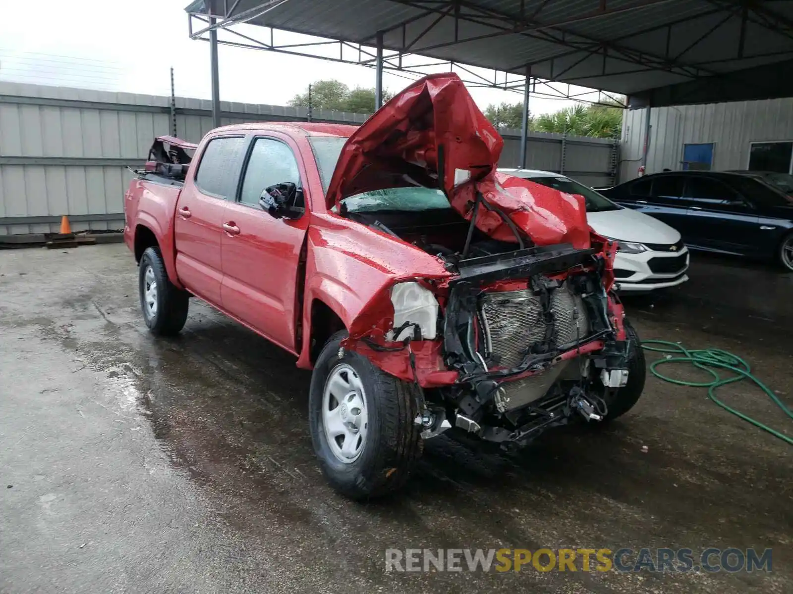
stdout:
[[[176,98],[178,135],[198,142],[212,128],[211,105]],[[305,121],[306,109],[222,102],[222,123]],[[360,124],[363,114],[314,110],[313,120]],[[0,82],[0,236],[58,230],[121,229],[132,173],[156,135],[170,132],[170,97]],[[501,166],[517,166],[519,131],[502,131]],[[607,139],[533,132],[528,166],[587,185],[614,179],[616,145]]]

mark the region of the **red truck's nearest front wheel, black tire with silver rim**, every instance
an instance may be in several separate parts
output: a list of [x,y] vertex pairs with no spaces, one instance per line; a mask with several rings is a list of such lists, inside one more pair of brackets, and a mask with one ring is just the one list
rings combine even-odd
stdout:
[[340,351],[345,336],[331,337],[314,367],[311,440],[334,489],[356,500],[382,497],[404,485],[421,457],[416,386],[357,352]]

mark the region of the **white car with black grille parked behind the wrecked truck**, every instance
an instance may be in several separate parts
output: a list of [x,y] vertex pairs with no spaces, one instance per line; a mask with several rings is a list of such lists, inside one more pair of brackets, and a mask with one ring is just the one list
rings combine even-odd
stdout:
[[614,275],[620,292],[675,287],[688,280],[688,248],[680,233],[666,223],[619,206],[592,188],[559,173],[506,168],[499,171],[584,196],[589,226],[596,233],[618,242]]

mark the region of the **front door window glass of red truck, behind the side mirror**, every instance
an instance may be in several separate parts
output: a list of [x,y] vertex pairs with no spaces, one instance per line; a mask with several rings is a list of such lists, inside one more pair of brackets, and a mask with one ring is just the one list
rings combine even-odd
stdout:
[[[262,190],[271,185],[291,181],[302,188],[297,160],[285,143],[270,138],[255,139],[251,156],[248,158],[243,177],[243,190],[239,201],[243,204],[259,206]],[[297,192],[297,200],[302,199],[303,192]],[[294,206],[302,207],[303,204]]]

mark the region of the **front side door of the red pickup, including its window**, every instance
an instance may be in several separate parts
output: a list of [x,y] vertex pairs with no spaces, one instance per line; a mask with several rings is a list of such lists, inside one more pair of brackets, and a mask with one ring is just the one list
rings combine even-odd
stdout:
[[238,201],[225,213],[221,294],[230,314],[294,352],[297,274],[308,216],[274,219],[258,204],[264,188],[287,181],[301,188],[293,150],[278,139],[255,139]]

